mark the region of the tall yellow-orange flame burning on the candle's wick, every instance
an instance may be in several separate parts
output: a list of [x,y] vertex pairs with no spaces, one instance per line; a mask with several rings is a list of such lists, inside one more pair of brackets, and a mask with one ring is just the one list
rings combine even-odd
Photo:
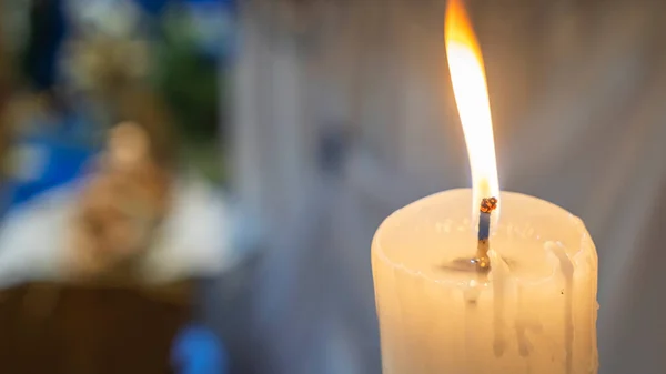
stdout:
[[483,57],[462,0],[448,1],[444,29],[453,93],[472,168],[472,210],[478,212],[483,198],[500,195],[500,182]]

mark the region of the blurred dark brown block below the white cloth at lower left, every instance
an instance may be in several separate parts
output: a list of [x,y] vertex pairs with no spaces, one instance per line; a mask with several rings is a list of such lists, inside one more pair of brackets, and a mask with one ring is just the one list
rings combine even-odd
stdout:
[[0,292],[0,372],[173,373],[191,282],[161,289],[28,284]]

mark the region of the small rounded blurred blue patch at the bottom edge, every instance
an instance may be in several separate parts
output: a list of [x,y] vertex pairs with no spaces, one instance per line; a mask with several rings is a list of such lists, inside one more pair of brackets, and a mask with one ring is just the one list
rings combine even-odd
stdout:
[[180,374],[225,374],[229,365],[218,336],[198,325],[186,327],[176,336],[172,360]]

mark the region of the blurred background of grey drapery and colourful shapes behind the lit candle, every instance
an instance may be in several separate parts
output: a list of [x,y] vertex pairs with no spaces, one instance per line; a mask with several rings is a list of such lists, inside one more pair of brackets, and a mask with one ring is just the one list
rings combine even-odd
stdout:
[[[599,373],[663,374],[666,3],[467,3],[501,186],[594,237]],[[444,7],[3,0],[0,368],[379,374],[374,230],[471,180]]]

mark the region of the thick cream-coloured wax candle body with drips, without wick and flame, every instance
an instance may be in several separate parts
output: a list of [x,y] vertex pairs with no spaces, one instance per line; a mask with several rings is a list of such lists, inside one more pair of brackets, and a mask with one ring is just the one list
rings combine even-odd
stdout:
[[471,190],[438,193],[377,230],[384,374],[597,373],[597,255],[583,222],[503,192],[484,275],[452,265],[476,250],[471,201]]

